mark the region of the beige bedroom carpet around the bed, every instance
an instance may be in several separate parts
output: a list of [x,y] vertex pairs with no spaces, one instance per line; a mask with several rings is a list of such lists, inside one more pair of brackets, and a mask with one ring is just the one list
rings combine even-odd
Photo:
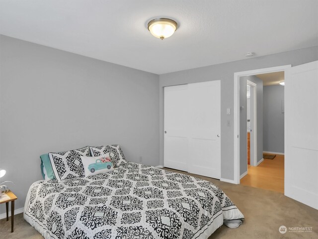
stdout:
[[[176,170],[173,170],[176,171]],[[192,175],[192,174],[189,174]],[[198,176],[218,185],[238,206],[245,221],[237,229],[219,228],[209,239],[317,239],[318,211],[281,193]],[[14,218],[14,232],[10,233],[10,220],[0,220],[0,239],[43,239],[28,223],[23,214]],[[280,234],[280,226],[313,227],[312,232]]]

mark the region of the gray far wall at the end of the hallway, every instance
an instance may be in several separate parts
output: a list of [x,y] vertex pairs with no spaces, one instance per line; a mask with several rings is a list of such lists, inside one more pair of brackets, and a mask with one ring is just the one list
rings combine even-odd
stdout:
[[[284,87],[263,88],[263,146],[264,151],[284,153]],[[304,122],[305,123],[305,122]]]

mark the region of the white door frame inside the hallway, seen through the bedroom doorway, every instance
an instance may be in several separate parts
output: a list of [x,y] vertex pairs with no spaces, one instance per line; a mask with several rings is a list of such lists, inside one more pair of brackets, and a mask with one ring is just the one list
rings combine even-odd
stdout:
[[[253,88],[253,116],[251,116],[253,117],[253,131],[252,133],[250,133],[250,135],[253,134],[253,141],[250,140],[250,149],[252,148],[251,145],[253,143],[253,164],[251,164],[251,166],[256,166],[257,165],[257,91],[256,91],[256,84],[254,82],[246,80],[246,85],[249,85],[250,89]],[[246,166],[246,172],[247,172],[247,166]]]

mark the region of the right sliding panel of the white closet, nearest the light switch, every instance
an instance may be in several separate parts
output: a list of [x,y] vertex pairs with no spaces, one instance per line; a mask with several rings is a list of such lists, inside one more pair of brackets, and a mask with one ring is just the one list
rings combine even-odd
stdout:
[[189,84],[188,172],[221,178],[221,82]]

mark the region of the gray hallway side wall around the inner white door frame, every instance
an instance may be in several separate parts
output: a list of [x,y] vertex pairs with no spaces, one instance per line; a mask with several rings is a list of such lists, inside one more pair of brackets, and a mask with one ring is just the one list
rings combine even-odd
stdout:
[[[256,76],[239,78],[239,175],[247,170],[246,81],[256,84],[257,162],[263,158],[263,81]],[[252,88],[251,88],[252,89]],[[252,91],[252,90],[251,90]],[[242,107],[242,108],[241,108]],[[252,154],[251,154],[252,155]],[[251,163],[252,165],[252,163]]]

